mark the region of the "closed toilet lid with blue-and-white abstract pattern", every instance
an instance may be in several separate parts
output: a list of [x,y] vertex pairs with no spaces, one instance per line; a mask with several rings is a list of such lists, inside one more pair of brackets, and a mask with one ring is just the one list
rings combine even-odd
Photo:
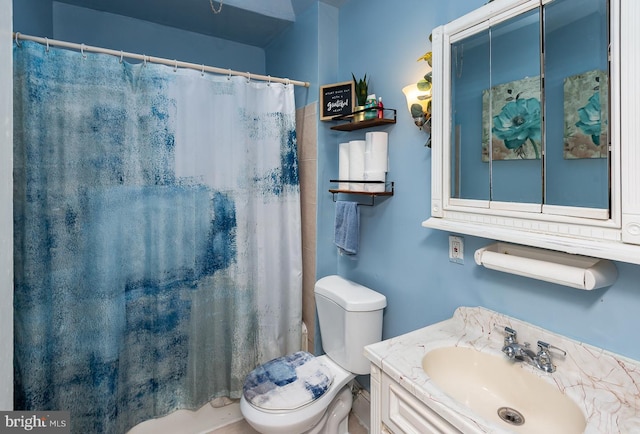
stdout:
[[293,410],[320,398],[333,372],[306,351],[278,357],[258,366],[242,387],[245,399],[265,410]]

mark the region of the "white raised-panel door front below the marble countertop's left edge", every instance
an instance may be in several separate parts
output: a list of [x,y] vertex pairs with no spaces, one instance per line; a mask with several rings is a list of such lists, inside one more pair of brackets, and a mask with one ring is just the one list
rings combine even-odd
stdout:
[[461,434],[461,431],[384,373],[381,393],[382,423],[394,434]]

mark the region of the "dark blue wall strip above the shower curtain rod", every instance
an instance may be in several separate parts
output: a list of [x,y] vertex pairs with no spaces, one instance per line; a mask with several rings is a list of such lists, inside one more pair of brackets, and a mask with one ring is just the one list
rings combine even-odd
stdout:
[[265,73],[261,48],[50,0],[13,3],[14,28],[23,34]]

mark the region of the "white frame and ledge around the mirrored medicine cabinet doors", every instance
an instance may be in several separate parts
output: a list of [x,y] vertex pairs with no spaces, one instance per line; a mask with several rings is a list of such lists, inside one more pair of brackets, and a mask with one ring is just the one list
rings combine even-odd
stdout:
[[427,228],[640,264],[640,16],[637,0],[610,3],[610,215],[592,209],[451,197],[451,44],[554,0],[495,0],[432,33],[431,216]]

